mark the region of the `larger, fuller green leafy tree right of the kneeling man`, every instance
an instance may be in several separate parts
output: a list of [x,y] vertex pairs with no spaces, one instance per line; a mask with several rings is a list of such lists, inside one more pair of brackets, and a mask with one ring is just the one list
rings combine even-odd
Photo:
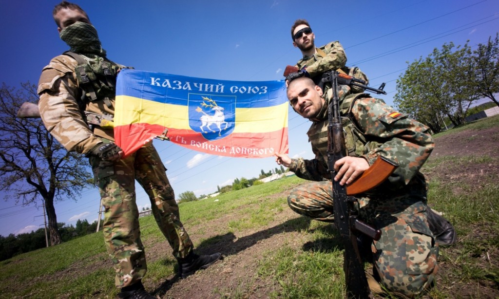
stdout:
[[394,103],[411,118],[441,131],[443,116],[455,125],[464,123],[466,111],[478,99],[469,82],[473,73],[468,43],[458,46],[444,44],[425,59],[420,58],[397,79]]

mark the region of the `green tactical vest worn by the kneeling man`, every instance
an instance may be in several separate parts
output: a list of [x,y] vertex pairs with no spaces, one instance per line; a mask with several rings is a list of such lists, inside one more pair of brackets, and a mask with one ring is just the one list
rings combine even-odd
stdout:
[[[345,97],[340,103],[341,124],[345,134],[345,144],[349,156],[361,156],[368,153],[371,149],[381,146],[373,140],[368,140],[358,127],[353,115],[352,108],[355,101],[359,98],[370,97],[369,94],[352,94]],[[324,160],[327,161],[327,127],[328,119],[320,122],[314,122],[307,132],[308,139],[313,148],[318,149]]]

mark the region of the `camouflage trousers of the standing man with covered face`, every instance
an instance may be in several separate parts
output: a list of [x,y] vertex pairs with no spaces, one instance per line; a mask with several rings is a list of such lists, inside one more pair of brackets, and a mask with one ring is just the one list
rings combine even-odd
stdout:
[[114,264],[117,287],[132,285],[147,272],[135,202],[135,180],[149,196],[156,223],[170,243],[173,255],[183,258],[193,250],[180,221],[179,207],[165,166],[152,144],[118,161],[103,161],[95,156],[90,156],[89,160],[105,208],[104,241]]

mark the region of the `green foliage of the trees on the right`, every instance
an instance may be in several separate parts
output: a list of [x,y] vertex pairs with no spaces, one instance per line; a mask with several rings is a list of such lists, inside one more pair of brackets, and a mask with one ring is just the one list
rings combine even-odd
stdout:
[[488,97],[499,106],[499,39],[479,44],[472,51],[468,42],[435,48],[425,59],[408,63],[397,80],[394,103],[410,117],[424,123],[434,133],[441,132],[444,119],[463,125],[474,101]]

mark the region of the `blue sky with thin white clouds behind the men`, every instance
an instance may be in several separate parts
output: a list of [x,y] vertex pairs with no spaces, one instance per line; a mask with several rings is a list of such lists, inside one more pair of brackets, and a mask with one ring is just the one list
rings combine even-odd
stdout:
[[[58,2],[0,2],[0,82],[16,88],[21,82],[37,83],[43,66],[67,50],[51,16]],[[221,80],[281,80],[285,66],[301,58],[292,45],[291,24],[305,18],[317,46],[339,40],[348,66],[363,70],[373,87],[386,82],[388,95],[381,98],[390,105],[407,61],[426,57],[451,41],[486,43],[499,28],[497,0],[74,2],[88,13],[111,60],[138,70]],[[313,157],[305,135],[308,127],[289,110],[291,156]],[[261,169],[277,166],[273,158],[220,157],[169,142],[154,143],[177,196],[184,191],[213,193],[217,185],[256,177]],[[99,200],[97,190],[89,189],[76,202],[56,203],[57,221],[92,222]],[[140,186],[137,205],[139,209],[151,205]],[[0,235],[43,227],[42,215],[34,206],[1,200]]]

